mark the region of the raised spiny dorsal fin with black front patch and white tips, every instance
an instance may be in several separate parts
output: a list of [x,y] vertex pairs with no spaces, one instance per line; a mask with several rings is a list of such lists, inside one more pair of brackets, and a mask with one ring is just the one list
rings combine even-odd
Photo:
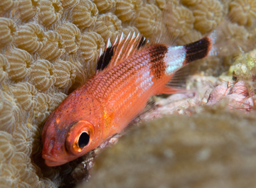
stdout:
[[131,32],[124,38],[124,33],[117,35],[114,43],[110,43],[110,39],[107,40],[107,45],[104,52],[100,49],[100,55],[97,60],[96,72],[104,70],[106,67],[114,67],[119,62],[127,59],[127,57],[134,55],[137,50],[141,49],[146,44],[146,38],[135,32],[131,35]]

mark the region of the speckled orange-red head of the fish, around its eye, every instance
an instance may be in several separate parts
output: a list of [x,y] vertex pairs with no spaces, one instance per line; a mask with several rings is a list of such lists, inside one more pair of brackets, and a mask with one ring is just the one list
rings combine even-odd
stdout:
[[[43,126],[42,157],[48,166],[63,165],[66,162],[75,160],[102,143],[102,131],[104,131],[102,126],[104,121],[102,120],[103,115],[100,104],[97,100],[91,99],[92,97],[90,95],[85,94],[85,97],[83,97],[78,92],[79,89],[74,94],[70,94],[50,114]],[[73,153],[70,150],[71,147],[69,147],[68,138],[70,138],[70,134],[74,135],[70,131],[74,131],[74,128],[75,131],[79,129],[81,122],[90,124],[92,126],[91,133],[93,134],[90,136],[88,145],[82,148],[80,152]],[[83,130],[86,131],[86,129]]]

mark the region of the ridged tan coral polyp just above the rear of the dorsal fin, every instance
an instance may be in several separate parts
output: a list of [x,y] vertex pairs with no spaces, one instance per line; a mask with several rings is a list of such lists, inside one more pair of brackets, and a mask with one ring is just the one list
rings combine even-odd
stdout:
[[146,4],[135,19],[135,26],[145,37],[152,37],[156,21],[161,16],[161,11],[157,6]]

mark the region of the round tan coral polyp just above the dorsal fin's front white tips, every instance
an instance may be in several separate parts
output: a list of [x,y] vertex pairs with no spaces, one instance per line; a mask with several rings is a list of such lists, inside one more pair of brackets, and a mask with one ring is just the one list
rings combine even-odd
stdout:
[[112,13],[106,13],[99,16],[96,22],[94,31],[99,33],[104,39],[105,43],[107,39],[110,38],[111,41],[119,34],[122,29],[121,21]]

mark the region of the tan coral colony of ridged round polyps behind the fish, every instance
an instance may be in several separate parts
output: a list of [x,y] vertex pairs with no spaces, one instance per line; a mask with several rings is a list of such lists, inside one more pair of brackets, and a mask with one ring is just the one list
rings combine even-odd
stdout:
[[[92,77],[108,38],[135,31],[150,39],[168,2],[0,2],[0,187],[60,187],[71,176],[76,162],[61,167],[43,164],[43,122],[70,92]],[[256,38],[255,1],[173,2],[174,26],[169,30],[179,45],[198,40],[228,13],[234,15],[229,38]],[[193,70],[218,75],[227,70],[229,61],[225,61],[203,60]]]

